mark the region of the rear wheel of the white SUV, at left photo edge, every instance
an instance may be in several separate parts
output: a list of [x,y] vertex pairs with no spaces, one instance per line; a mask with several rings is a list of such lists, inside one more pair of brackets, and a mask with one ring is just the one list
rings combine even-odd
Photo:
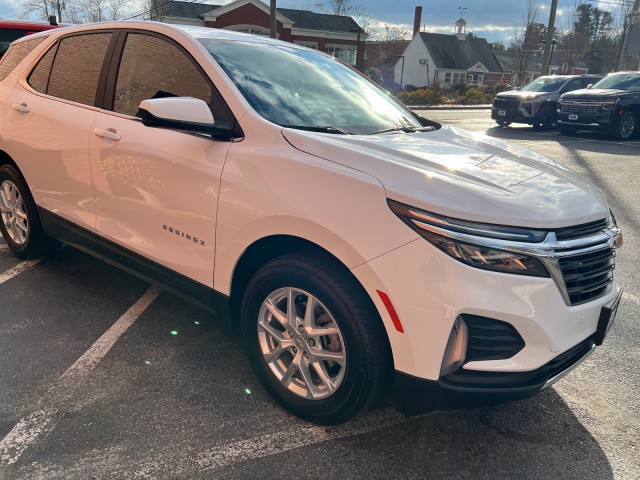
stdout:
[[[0,166],[0,195],[1,207],[18,206],[0,213],[0,233],[11,251],[23,259],[48,253],[53,242],[42,230],[38,210],[26,182],[11,165]],[[15,215],[18,210],[25,218]]]

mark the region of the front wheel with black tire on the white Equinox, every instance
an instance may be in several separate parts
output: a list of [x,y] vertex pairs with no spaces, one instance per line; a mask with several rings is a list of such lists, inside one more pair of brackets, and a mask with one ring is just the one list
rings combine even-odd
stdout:
[[[296,291],[289,293],[287,289]],[[337,326],[342,341],[335,338],[329,339],[329,345],[326,345],[325,340],[322,340],[326,337],[317,336],[316,341],[313,342],[313,339],[303,337],[304,328],[300,330],[300,325],[290,329],[290,324],[285,319],[276,321],[276,317],[273,314],[270,315],[269,310],[266,307],[263,308],[263,304],[267,299],[273,299],[280,294],[284,295],[283,292],[287,292],[286,298],[291,297],[295,301],[297,315],[294,322],[299,322],[301,315],[306,312],[309,298],[314,297],[313,300],[319,303],[314,302],[312,316],[316,317],[317,312],[326,312],[327,316],[322,313],[316,318],[331,318],[332,321],[326,325]],[[286,300],[282,301],[285,303],[276,305],[288,305]],[[272,300],[270,305],[273,304]],[[267,325],[270,328],[278,330],[277,337],[268,333],[264,327],[259,329],[259,322],[266,322],[265,319],[268,320]],[[307,252],[306,255],[287,255],[264,265],[253,276],[245,291],[241,308],[241,325],[249,361],[265,389],[284,408],[305,420],[323,425],[345,422],[378,403],[391,385],[393,362],[382,320],[364,289],[349,276],[342,265],[326,254]],[[286,325],[286,328],[283,325]],[[281,327],[282,332],[280,332]],[[282,343],[280,343],[280,337]],[[300,339],[303,342],[302,346]],[[269,341],[271,345],[277,344],[273,350],[269,350]],[[285,342],[291,345],[282,347]],[[269,363],[265,355],[275,351],[278,345],[285,353],[278,354],[275,360],[272,359]],[[314,349],[319,352],[329,352],[331,345],[333,345],[332,351],[344,356],[345,365],[336,362],[331,365],[332,362],[323,360],[318,362],[315,356],[309,356],[315,355],[312,353]],[[266,354],[263,349],[267,349]],[[315,373],[314,381],[319,381],[319,385],[311,382],[312,387],[307,388],[306,397],[303,393],[308,382],[305,383],[302,370],[296,366],[297,364],[294,365],[296,359],[298,362],[309,362],[305,367],[307,378],[313,377]],[[325,395],[322,398],[310,398],[311,390],[320,390],[332,382],[323,382],[318,369],[311,363],[322,364],[325,378],[329,379],[330,375],[335,375],[332,377],[334,379],[340,378],[339,382],[337,380],[333,382],[336,385],[333,392],[330,393],[329,388],[316,392],[319,395]],[[330,369],[333,370],[327,376]],[[289,370],[296,373],[288,377],[292,380],[285,385],[284,382],[288,379],[284,377],[287,377]],[[276,376],[276,371],[282,374],[283,381]]]

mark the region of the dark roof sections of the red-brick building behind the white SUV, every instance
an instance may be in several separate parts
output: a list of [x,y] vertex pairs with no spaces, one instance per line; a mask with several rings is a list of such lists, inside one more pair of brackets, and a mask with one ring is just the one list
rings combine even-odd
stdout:
[[[202,18],[202,15],[205,13],[227,6],[181,2],[177,0],[169,1],[166,5],[163,16],[182,18]],[[360,28],[353,18],[343,15],[314,13],[307,10],[295,10],[292,8],[278,8],[277,12],[291,20],[294,24],[294,28],[320,30],[325,32],[351,32],[354,29],[360,29],[360,31],[364,33],[364,30]]]

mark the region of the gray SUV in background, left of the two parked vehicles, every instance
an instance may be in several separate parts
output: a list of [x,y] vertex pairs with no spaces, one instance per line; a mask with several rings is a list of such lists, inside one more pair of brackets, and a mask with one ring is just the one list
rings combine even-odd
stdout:
[[536,78],[521,90],[496,95],[491,118],[501,127],[526,123],[536,130],[553,127],[560,95],[596,83],[602,75],[549,75]]

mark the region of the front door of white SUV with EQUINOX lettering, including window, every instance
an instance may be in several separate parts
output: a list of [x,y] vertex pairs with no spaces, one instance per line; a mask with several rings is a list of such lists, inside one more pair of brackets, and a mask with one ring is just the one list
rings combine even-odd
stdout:
[[145,127],[137,115],[149,98],[189,96],[211,105],[212,85],[178,45],[134,32],[115,83],[110,111],[97,115],[89,138],[97,230],[213,288],[216,209],[231,143]]

